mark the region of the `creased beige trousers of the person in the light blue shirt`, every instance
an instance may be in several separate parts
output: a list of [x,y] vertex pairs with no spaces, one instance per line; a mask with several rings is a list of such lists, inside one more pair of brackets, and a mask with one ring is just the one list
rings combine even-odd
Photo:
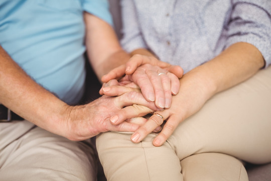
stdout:
[[28,121],[0,123],[0,180],[96,180],[87,142],[70,141]]

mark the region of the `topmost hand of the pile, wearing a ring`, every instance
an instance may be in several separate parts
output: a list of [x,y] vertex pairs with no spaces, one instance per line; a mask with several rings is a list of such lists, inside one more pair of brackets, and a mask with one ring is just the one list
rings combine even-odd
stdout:
[[119,78],[125,73],[119,81],[134,82],[141,88],[146,100],[155,101],[160,108],[169,108],[172,94],[176,95],[179,92],[179,78],[182,77],[183,70],[180,66],[170,65],[155,57],[134,55],[126,65],[121,65],[104,75],[102,81]]

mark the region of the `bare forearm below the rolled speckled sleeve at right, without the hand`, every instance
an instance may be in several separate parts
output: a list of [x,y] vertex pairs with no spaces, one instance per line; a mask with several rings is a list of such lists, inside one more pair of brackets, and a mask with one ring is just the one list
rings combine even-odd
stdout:
[[194,77],[203,82],[208,96],[213,96],[246,80],[263,66],[263,57],[256,47],[247,43],[236,43],[184,77],[195,75]]

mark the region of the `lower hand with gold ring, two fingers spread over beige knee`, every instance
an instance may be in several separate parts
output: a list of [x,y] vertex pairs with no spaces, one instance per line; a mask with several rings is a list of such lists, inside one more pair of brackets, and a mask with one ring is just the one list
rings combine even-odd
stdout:
[[[205,102],[212,96],[208,90],[208,84],[204,80],[199,78],[200,76],[194,76],[191,74],[186,74],[182,79],[180,79],[181,87],[178,95],[173,96],[172,106],[169,109],[163,111],[156,111],[150,119],[139,129],[137,129],[131,136],[131,141],[134,143],[139,143],[142,141],[149,133],[155,130],[158,126],[162,126],[162,131],[153,140],[155,146],[161,146],[174,132],[177,126],[184,121],[189,116],[196,113]],[[111,88],[111,95],[117,93],[115,90],[117,86]],[[120,89],[120,87],[119,87]],[[108,92],[110,92],[108,91]],[[109,94],[107,92],[107,94]],[[115,115],[120,115],[121,112],[116,112]],[[159,115],[161,116],[159,116]],[[118,116],[119,119],[112,124],[118,125],[130,117],[129,113],[126,115]]]

